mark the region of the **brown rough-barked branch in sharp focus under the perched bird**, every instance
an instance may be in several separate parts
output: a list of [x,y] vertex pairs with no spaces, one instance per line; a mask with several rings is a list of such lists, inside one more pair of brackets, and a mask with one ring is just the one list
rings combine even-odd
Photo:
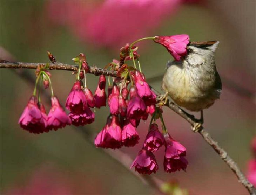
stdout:
[[[30,69],[36,69],[37,66],[42,63],[22,63],[22,62],[0,62],[0,68],[30,68]],[[46,63],[45,63],[46,65]],[[49,64],[50,70],[69,70],[69,71],[76,71],[77,67],[74,65],[68,65],[68,64],[62,64],[62,63],[54,63]],[[114,76],[118,77],[116,75],[116,72],[114,71],[108,71],[106,69],[97,68],[96,66],[89,67],[89,72],[94,75],[106,75],[106,76]],[[156,91],[156,90],[155,90]],[[159,92],[157,92],[157,95],[160,95]],[[182,109],[180,109],[178,106],[176,106],[173,102],[168,101],[168,103],[165,105],[169,107],[171,110],[176,112],[178,115],[180,115],[182,118],[187,120],[192,126],[197,125],[196,120],[193,116],[190,116],[186,112],[184,112]],[[215,152],[220,156],[220,158],[228,165],[228,167],[235,173],[235,175],[238,178],[238,182],[242,183],[243,186],[249,191],[251,195],[256,195],[256,189],[254,186],[246,179],[244,174],[242,173],[241,169],[237,166],[237,163],[230,158],[228,153],[221,148],[217,141],[215,141],[210,134],[204,130],[204,128],[201,126],[198,133],[203,137],[203,139],[209,144]],[[116,159],[116,158],[115,158]],[[118,158],[120,159],[120,158]],[[123,163],[122,163],[123,164]],[[124,164],[123,164],[124,165]],[[126,165],[124,165],[126,166]],[[143,176],[144,177],[144,176]],[[151,177],[146,177],[151,178]],[[154,182],[154,180],[150,179],[150,182]]]

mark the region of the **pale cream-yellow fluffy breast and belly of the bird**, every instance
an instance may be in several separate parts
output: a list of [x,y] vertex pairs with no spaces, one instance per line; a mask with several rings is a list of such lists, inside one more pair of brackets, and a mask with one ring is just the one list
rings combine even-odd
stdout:
[[172,65],[163,77],[162,88],[179,106],[191,111],[200,111],[211,106],[217,99],[213,93],[213,81],[202,74],[205,73]]

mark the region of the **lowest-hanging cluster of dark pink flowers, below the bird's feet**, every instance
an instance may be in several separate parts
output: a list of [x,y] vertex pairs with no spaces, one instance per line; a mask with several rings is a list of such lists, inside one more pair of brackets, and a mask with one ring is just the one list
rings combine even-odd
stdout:
[[165,145],[164,170],[168,173],[177,170],[185,170],[188,161],[185,159],[186,148],[179,142],[173,140],[169,133],[163,134],[159,131],[157,124],[153,123],[146,136],[143,148],[131,165],[135,170],[143,174],[156,173],[158,165],[153,152]]

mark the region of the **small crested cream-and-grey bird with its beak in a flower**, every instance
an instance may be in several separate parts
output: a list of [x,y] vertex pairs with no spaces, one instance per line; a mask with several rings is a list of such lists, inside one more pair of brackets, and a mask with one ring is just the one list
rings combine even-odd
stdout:
[[[166,96],[190,111],[201,111],[214,104],[221,94],[221,78],[215,65],[218,41],[190,42],[187,54],[179,61],[169,61],[163,76],[162,89]],[[194,131],[198,130],[195,128]]]

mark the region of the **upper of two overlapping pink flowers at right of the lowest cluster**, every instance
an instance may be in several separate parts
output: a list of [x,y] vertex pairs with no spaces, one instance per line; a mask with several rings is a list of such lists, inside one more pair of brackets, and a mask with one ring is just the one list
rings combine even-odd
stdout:
[[173,140],[169,133],[164,134],[166,142],[165,158],[167,159],[179,159],[180,156],[186,156],[186,148],[179,142]]

